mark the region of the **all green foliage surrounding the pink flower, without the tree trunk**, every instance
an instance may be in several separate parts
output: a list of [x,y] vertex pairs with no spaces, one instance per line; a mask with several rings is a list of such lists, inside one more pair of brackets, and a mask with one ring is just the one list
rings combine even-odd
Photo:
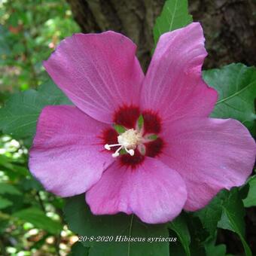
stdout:
[[[187,1],[166,1],[154,26],[155,44],[163,32],[191,21]],[[66,2],[50,0],[2,1],[0,24],[1,254],[256,254],[255,237],[252,234],[251,239],[248,233],[251,223],[245,218],[247,212],[256,221],[256,175],[251,175],[243,187],[221,191],[205,209],[182,212],[175,221],[163,225],[143,224],[133,215],[96,217],[85,206],[83,195],[65,203],[44,191],[27,169],[38,114],[45,105],[70,102],[47,77],[41,61],[47,59],[59,40],[79,28]],[[203,78],[219,93],[212,117],[235,118],[255,135],[256,69],[230,64],[205,71]],[[170,236],[177,237],[177,242],[76,242],[76,234],[94,238]],[[230,248],[227,240],[237,245]]]

